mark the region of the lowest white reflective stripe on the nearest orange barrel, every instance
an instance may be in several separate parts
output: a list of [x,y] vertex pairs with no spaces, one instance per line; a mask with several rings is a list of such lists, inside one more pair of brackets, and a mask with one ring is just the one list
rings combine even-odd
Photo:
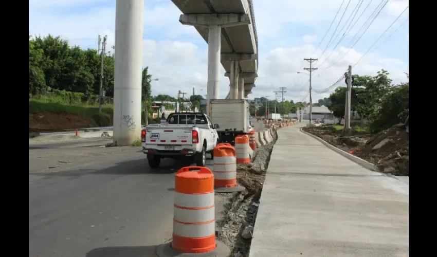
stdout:
[[173,233],[183,237],[206,237],[215,234],[215,221],[205,224],[183,224],[173,219]]

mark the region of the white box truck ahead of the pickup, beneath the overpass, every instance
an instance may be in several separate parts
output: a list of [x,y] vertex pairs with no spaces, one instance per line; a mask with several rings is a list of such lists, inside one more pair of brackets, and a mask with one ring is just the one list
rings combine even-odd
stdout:
[[249,103],[244,99],[211,99],[209,118],[216,129],[219,143],[235,143],[235,137],[250,132]]

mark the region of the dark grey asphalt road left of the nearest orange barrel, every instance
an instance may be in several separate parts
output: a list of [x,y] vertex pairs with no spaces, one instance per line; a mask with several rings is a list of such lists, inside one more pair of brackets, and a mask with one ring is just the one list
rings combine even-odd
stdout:
[[139,148],[45,146],[29,145],[29,256],[156,256],[171,238],[174,161],[150,170]]

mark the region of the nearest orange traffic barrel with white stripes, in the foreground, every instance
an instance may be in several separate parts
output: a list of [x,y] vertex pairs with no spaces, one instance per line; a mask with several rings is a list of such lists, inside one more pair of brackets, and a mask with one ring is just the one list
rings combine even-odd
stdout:
[[173,242],[184,253],[214,250],[214,175],[205,167],[184,167],[175,175]]

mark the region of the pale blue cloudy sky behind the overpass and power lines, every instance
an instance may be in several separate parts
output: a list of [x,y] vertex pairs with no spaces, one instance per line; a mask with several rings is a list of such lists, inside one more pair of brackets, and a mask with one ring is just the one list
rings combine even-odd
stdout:
[[[306,72],[303,68],[308,67],[308,62],[303,59],[310,57],[318,58],[313,62],[318,68],[312,76],[313,101],[329,97],[336,86],[345,85],[341,81],[333,86],[348,65],[352,65],[353,74],[375,76],[378,70],[385,69],[393,83],[406,82],[409,2],[386,2],[253,0],[259,64],[256,87],[248,98],[273,99],[274,91],[286,87],[286,100],[309,101],[309,76],[297,72]],[[115,3],[115,0],[29,0],[29,32],[59,35],[71,45],[94,49],[98,47],[98,35],[107,35],[106,49],[113,51]],[[372,22],[369,18],[384,4]],[[149,66],[153,78],[159,79],[152,82],[153,95],[176,97],[178,90],[191,93],[193,86],[196,94],[206,94],[208,44],[194,27],[179,23],[180,14],[170,0],[144,1],[142,65]],[[222,68],[221,98],[229,91],[229,78],[224,73]]]

